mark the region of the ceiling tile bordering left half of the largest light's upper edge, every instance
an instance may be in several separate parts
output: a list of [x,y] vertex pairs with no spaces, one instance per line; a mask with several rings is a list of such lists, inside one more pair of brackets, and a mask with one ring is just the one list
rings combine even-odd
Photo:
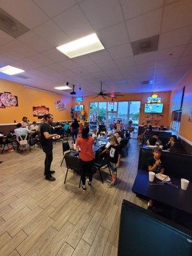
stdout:
[[63,45],[69,40],[68,36],[52,20],[48,20],[33,31],[54,47]]

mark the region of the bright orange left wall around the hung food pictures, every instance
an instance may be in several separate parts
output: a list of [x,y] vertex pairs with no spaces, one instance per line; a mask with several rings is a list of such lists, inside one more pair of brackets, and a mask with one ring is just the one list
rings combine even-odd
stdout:
[[[18,107],[0,108],[0,124],[9,124],[20,122],[22,116],[27,116],[30,122],[38,121],[36,116],[33,116],[33,107],[46,106],[49,112],[54,115],[54,120],[70,120],[70,108],[72,106],[72,98],[65,97],[60,94],[52,94],[42,92],[40,90],[31,90],[24,87],[22,84],[13,83],[6,80],[0,80],[0,92],[10,92],[18,97]],[[57,100],[62,100],[67,104],[67,109],[58,111],[54,104]]]

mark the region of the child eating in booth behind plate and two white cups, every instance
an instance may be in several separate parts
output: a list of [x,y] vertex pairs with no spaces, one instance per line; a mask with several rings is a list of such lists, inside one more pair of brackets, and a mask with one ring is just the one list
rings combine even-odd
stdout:
[[[147,166],[148,166],[148,172],[154,172],[154,173],[164,173],[164,163],[163,159],[161,158],[162,150],[161,148],[154,148],[152,157],[148,158]],[[148,207],[153,206],[152,200],[149,200]]]

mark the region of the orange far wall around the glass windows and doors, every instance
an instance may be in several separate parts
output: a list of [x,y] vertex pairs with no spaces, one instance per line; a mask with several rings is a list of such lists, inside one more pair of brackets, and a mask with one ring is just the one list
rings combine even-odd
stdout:
[[[140,113],[140,125],[142,125],[144,113],[144,104],[147,102],[147,98],[151,93],[125,93],[124,96],[118,97],[118,101],[129,101],[129,100],[140,100],[141,101],[141,113]],[[159,92],[159,97],[161,97],[162,102],[164,103],[163,108],[163,125],[169,126],[169,109],[170,109],[170,95],[171,92]],[[76,105],[76,98],[73,98],[73,106]],[[89,103],[97,101],[107,101],[103,97],[93,98],[92,96],[83,97],[84,110],[86,113],[86,119],[88,119]]]

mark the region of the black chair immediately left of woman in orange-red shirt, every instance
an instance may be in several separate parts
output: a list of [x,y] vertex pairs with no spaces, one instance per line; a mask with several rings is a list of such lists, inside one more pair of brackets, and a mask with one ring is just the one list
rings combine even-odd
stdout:
[[65,158],[65,163],[66,163],[66,167],[67,167],[67,172],[65,174],[64,184],[65,184],[66,179],[67,179],[68,169],[70,169],[70,170],[73,170],[74,173],[77,172],[77,173],[80,174],[80,180],[79,180],[79,188],[80,188],[80,185],[81,185],[81,168],[80,168],[79,157],[70,156],[68,154],[65,154],[64,158]]

